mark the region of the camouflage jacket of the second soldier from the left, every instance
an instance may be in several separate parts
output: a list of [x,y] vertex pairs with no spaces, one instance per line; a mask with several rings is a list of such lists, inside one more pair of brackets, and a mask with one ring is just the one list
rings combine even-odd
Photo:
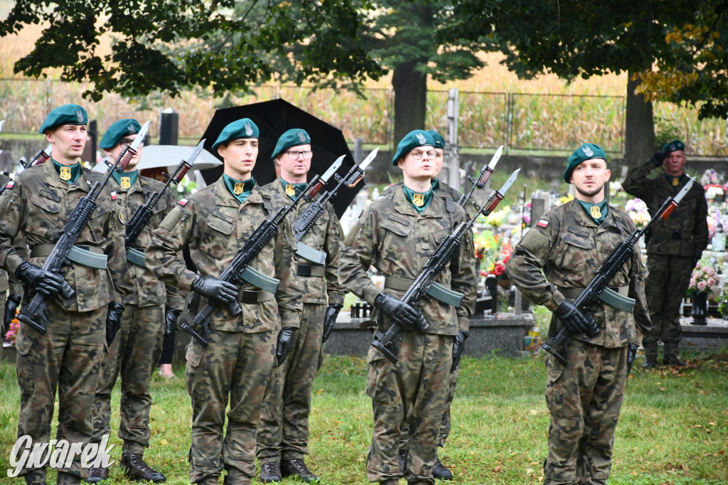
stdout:
[[[154,178],[138,176],[134,184],[128,190],[124,190],[112,177],[108,181],[108,187],[114,192],[114,202],[116,202],[119,221],[126,226],[131,222],[136,210],[146,203],[152,193],[164,189],[165,184],[154,180]],[[144,248],[151,242],[152,231],[159,226],[167,212],[175,206],[175,202],[172,192],[169,189],[165,190],[162,197],[157,200],[157,205],[152,208],[154,215],[151,216],[149,223],[144,226],[139,237],[133,243],[134,248],[144,251]],[[157,280],[146,267],[140,267],[132,263],[128,263],[128,266],[134,291],[124,298],[125,303],[135,304],[138,307],[150,307],[166,303],[170,307],[183,309],[184,299],[178,295],[177,288],[167,286]]]

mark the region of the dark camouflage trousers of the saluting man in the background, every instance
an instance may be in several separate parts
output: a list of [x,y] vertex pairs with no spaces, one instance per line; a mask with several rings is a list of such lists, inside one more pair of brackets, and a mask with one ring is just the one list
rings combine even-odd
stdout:
[[680,303],[690,284],[692,258],[650,254],[647,258],[649,276],[645,282],[647,307],[652,330],[644,335],[642,344],[647,358],[657,358],[657,341],[662,340],[665,354],[677,354],[680,345]]

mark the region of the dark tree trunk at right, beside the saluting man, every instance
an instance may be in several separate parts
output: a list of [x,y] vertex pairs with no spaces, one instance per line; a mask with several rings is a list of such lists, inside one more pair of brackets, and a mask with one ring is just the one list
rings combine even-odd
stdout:
[[625,159],[624,165],[634,167],[654,154],[654,121],[652,119],[652,102],[635,93],[640,79],[632,80],[633,73],[628,73],[627,81],[627,113],[625,114]]

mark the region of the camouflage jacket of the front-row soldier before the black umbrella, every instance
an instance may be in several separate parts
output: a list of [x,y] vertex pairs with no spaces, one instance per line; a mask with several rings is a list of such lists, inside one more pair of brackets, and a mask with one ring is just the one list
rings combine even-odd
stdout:
[[[229,266],[250,234],[271,216],[273,206],[285,201],[259,186],[245,202],[229,192],[223,178],[215,184],[180,200],[154,230],[146,250],[146,266],[167,285],[189,291],[196,273],[185,267],[178,256],[185,246],[200,275],[215,276]],[[271,210],[265,205],[271,204]],[[283,327],[298,327],[301,288],[298,286],[293,252],[293,229],[286,218],[278,234],[258,253],[250,265],[264,275],[280,280],[275,299],[241,304],[242,312],[232,318],[225,305],[217,305],[210,328],[221,331],[264,332]],[[248,283],[239,288],[257,290]],[[206,303],[205,299],[200,304]]]

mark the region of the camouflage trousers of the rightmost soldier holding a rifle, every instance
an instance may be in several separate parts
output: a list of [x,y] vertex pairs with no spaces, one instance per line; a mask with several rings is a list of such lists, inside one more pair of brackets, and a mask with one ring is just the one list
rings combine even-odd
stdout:
[[546,355],[551,414],[545,484],[605,484],[627,380],[627,347],[571,339],[569,364]]

